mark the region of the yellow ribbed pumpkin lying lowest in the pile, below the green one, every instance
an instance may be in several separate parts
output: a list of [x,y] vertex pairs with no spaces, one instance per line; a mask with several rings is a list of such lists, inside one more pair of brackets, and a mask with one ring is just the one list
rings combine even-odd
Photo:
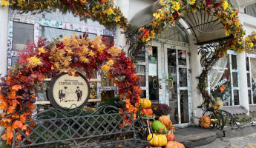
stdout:
[[167,138],[165,135],[150,134],[148,135],[147,140],[152,146],[155,147],[162,147],[167,144]]

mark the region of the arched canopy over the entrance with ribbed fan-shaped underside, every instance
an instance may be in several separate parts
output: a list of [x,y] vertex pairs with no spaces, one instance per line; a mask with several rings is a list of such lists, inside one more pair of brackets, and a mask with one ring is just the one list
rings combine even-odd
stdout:
[[[140,10],[140,12],[131,19],[131,27],[128,29],[128,33],[153,21],[153,14],[161,7],[159,1],[160,0],[154,1],[154,3],[148,7]],[[197,44],[205,44],[210,41],[226,38],[223,24],[220,23],[215,16],[207,15],[203,9],[197,10],[197,12],[190,11],[182,19],[186,21],[186,24],[188,25],[188,27],[184,29],[191,30],[197,38]]]

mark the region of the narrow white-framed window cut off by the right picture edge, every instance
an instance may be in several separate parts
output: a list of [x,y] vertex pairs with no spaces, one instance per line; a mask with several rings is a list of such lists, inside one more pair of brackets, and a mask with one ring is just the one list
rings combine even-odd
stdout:
[[249,104],[256,104],[256,55],[246,57],[247,84]]

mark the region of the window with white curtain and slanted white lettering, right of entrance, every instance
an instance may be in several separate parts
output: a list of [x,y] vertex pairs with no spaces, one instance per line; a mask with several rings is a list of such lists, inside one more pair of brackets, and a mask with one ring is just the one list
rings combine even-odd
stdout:
[[209,92],[220,106],[240,104],[237,55],[232,51],[220,58],[209,72]]

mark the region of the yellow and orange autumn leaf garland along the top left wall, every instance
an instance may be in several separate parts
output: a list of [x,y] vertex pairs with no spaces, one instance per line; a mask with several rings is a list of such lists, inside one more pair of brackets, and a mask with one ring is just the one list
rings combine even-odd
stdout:
[[123,30],[129,27],[127,19],[119,7],[114,5],[113,0],[2,0],[1,5],[10,5],[15,10],[33,13],[59,9],[62,13],[69,11],[84,21],[88,18],[99,21],[106,27],[113,27],[113,24],[117,24]]

